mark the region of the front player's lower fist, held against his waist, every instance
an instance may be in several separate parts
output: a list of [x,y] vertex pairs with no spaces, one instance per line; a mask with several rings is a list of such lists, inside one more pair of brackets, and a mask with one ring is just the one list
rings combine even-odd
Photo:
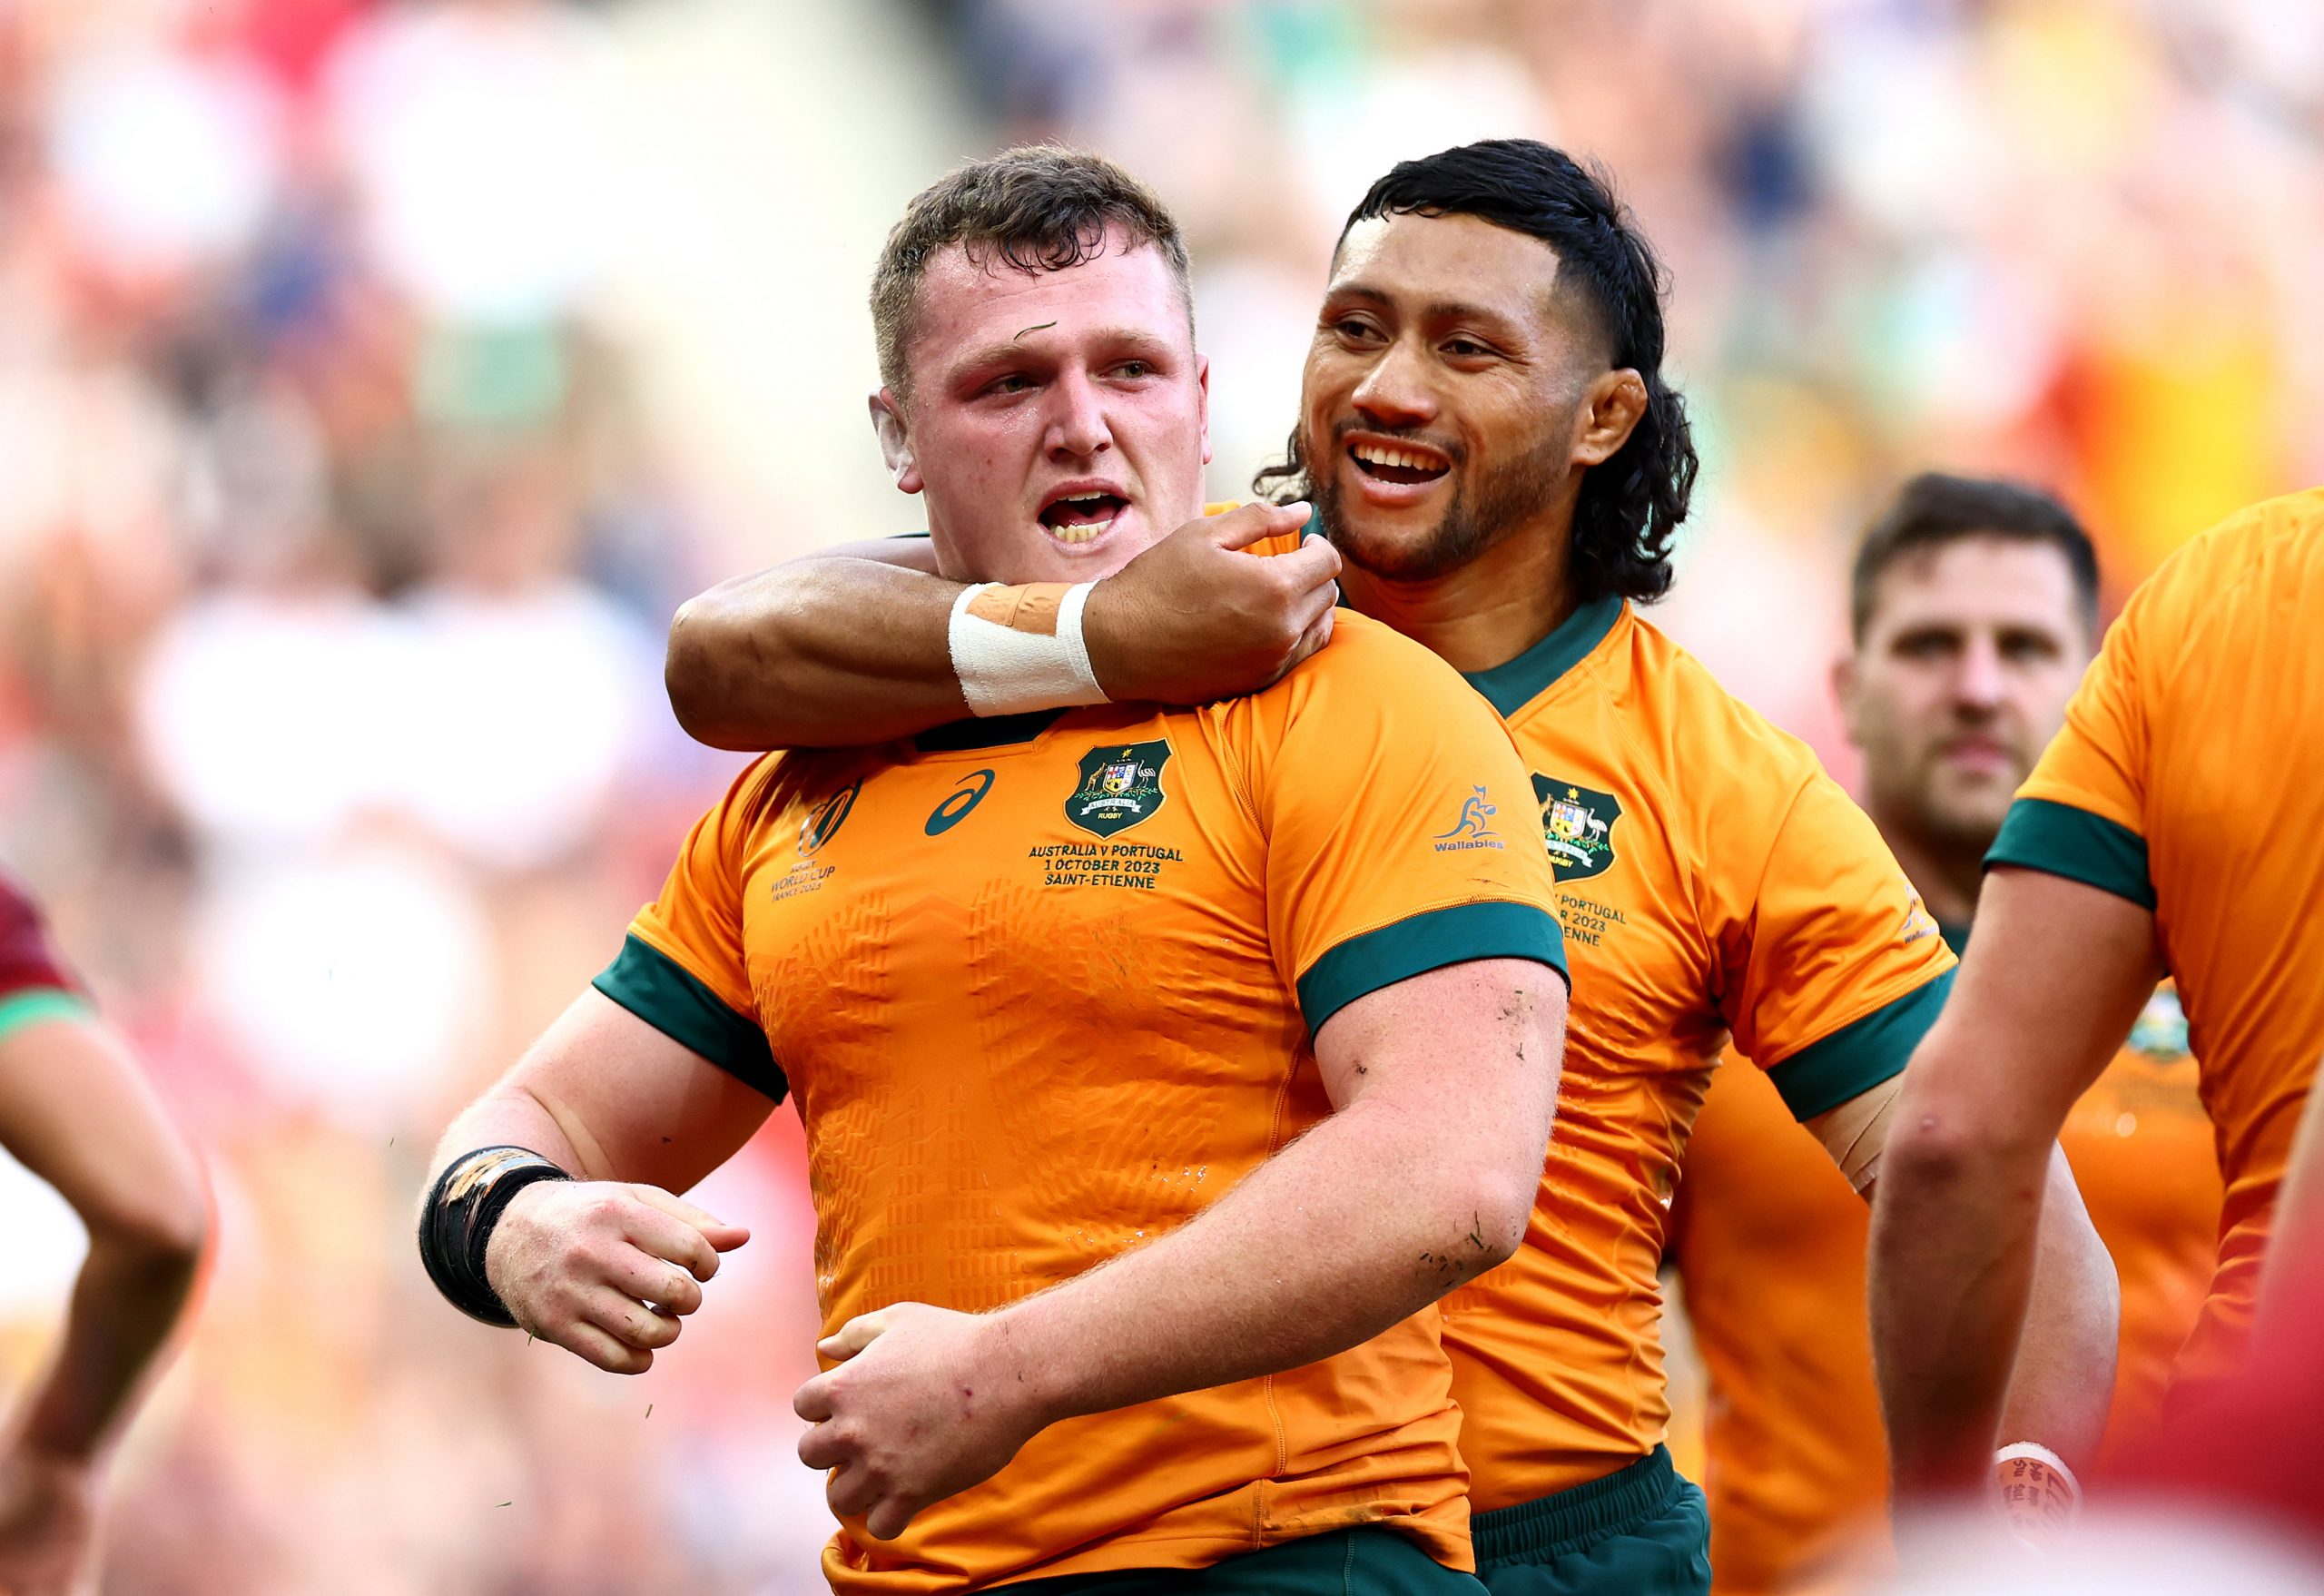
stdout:
[[816,1350],[839,1366],[790,1399],[811,1422],[799,1461],[832,1471],[832,1512],[865,1515],[874,1540],[895,1540],[923,1508],[990,1480],[1048,1424],[992,1315],[895,1303]]

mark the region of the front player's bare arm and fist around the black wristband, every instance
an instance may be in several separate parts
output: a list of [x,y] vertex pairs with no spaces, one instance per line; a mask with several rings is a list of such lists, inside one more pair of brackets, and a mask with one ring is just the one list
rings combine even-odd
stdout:
[[[676,1194],[725,1164],[774,1103],[602,992],[574,999],[437,1145],[532,1148],[574,1176],[518,1192],[486,1278],[530,1333],[644,1373],[748,1231]],[[430,1185],[435,1178],[430,1176]]]

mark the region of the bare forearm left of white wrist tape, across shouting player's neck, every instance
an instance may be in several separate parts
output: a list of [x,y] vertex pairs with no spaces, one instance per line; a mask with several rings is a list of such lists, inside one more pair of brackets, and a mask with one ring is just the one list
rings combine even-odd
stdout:
[[679,609],[669,706],[713,748],[851,748],[969,713],[948,623],[960,583],[876,560],[799,560]]

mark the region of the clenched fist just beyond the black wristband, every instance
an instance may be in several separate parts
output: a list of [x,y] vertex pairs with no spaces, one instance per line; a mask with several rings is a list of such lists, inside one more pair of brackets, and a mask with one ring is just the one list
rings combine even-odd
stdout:
[[500,1215],[483,1278],[516,1322],[616,1375],[653,1368],[702,1306],[718,1254],[751,1241],[651,1185],[539,1180]]

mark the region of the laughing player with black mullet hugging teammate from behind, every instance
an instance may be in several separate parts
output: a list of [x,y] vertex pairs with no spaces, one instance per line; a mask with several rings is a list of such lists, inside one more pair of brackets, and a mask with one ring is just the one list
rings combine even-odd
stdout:
[[[1662,1445],[1655,1271],[1687,1127],[1731,1034],[1868,1187],[1894,1078],[1952,973],[1815,755],[1634,609],[1671,583],[1694,481],[1662,344],[1659,267],[1573,160],[1529,139],[1411,160],[1341,232],[1290,462],[1264,474],[1313,495],[1348,604],[1508,720],[1557,864],[1576,971],[1557,1138],[1520,1254],[1443,1306],[1497,1591],[1708,1587],[1701,1491]],[[848,553],[916,558],[909,541]],[[878,637],[858,590],[897,599]],[[725,716],[762,746],[937,718],[964,699],[960,602],[957,583],[860,558],[739,578],[681,613],[672,699],[688,725]],[[1287,599],[1285,646],[1301,623]],[[713,704],[739,678],[758,683],[737,695],[760,706],[746,727]],[[2106,1415],[2115,1287],[2061,1164],[2052,1192],[2029,1340],[2054,1357],[2013,1417],[2082,1452]]]

